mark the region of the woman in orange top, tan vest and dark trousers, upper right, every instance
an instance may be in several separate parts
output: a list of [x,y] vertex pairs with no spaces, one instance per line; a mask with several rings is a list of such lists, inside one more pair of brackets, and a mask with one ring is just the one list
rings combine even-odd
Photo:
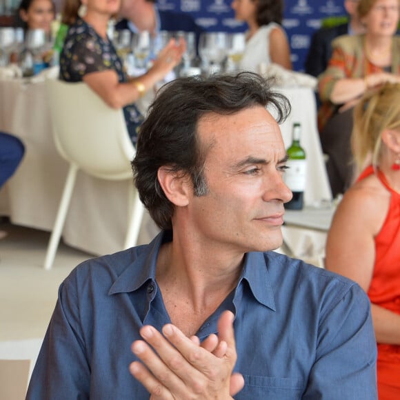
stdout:
[[352,107],[363,93],[386,82],[400,82],[399,0],[359,0],[357,12],[366,33],[332,43],[329,66],[319,76],[319,133],[333,196],[353,181],[350,134]]

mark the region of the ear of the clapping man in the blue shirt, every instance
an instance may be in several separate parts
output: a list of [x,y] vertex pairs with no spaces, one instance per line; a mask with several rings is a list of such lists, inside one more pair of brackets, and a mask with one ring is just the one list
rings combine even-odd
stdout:
[[157,172],[157,178],[168,200],[175,206],[188,206],[192,183],[188,174],[181,171],[172,172],[170,168],[163,166]]

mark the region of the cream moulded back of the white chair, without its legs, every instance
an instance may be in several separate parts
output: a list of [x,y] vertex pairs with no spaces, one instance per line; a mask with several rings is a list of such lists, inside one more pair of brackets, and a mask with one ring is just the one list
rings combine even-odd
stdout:
[[47,88],[57,150],[101,179],[130,179],[135,150],[121,110],[110,108],[86,83],[49,79]]

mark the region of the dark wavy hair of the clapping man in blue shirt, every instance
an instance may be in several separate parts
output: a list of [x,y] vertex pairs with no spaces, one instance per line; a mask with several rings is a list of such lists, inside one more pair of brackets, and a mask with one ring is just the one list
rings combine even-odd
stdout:
[[196,196],[208,193],[203,165],[208,148],[197,135],[199,120],[210,112],[227,115],[254,106],[272,106],[280,123],[290,114],[290,103],[271,89],[272,81],[252,72],[179,78],[163,86],[150,106],[132,161],[134,181],[144,206],[161,229],[172,228],[174,205],[164,194],[157,172],[188,175]]

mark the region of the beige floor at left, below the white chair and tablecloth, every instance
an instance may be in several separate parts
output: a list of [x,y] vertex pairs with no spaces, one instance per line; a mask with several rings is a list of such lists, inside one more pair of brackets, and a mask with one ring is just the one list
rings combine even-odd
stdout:
[[43,338],[61,281],[92,257],[60,244],[52,270],[42,264],[48,232],[0,223],[0,341]]

